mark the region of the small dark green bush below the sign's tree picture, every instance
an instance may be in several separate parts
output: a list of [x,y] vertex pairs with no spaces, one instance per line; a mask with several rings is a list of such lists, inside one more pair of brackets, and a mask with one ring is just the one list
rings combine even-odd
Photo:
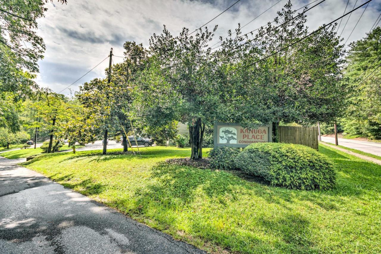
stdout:
[[210,166],[216,169],[235,169],[234,159],[239,153],[239,148],[217,146],[209,152]]

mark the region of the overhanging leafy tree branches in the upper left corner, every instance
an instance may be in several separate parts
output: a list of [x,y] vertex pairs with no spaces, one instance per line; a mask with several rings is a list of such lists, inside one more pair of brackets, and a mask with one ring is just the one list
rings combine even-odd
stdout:
[[47,2],[0,0],[0,92],[13,92],[16,99],[31,95],[38,87],[30,73],[38,72],[37,61],[45,51],[37,35],[37,20],[44,16]]

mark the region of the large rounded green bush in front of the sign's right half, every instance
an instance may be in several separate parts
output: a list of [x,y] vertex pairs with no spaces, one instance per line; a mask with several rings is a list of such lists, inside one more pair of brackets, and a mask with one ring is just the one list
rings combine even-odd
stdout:
[[251,144],[235,158],[235,166],[247,174],[264,177],[271,185],[290,189],[327,189],[336,178],[328,158],[303,145]]

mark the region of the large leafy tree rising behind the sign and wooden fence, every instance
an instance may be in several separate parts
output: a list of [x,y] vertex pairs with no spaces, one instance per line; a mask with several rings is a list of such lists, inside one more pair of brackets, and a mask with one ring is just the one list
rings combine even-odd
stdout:
[[242,102],[266,114],[258,120],[272,122],[274,141],[278,141],[280,121],[329,122],[340,116],[346,105],[344,51],[336,26],[306,37],[311,32],[306,21],[306,14],[296,13],[289,1],[273,23],[261,27],[253,39],[247,38],[243,55],[242,50],[236,51],[242,46],[226,50],[228,56],[242,55],[230,78],[235,87],[243,88]]

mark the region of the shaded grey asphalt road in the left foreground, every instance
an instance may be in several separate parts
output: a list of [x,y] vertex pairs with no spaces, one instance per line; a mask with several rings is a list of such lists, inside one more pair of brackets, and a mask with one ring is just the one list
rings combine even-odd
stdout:
[[0,253],[205,253],[0,157]]

